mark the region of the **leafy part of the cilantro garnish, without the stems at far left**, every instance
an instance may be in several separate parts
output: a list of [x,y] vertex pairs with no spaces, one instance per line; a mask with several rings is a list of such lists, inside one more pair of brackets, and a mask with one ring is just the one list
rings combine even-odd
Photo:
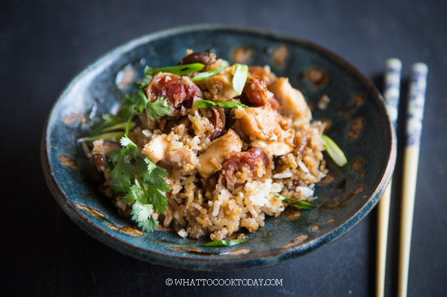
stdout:
[[166,210],[167,200],[163,194],[171,189],[164,182],[168,176],[166,169],[157,167],[146,155],[142,154],[137,145],[129,139],[128,134],[135,115],[146,115],[151,119],[160,121],[160,117],[172,115],[171,107],[167,105],[166,98],[160,97],[155,102],[148,102],[141,90],[127,98],[127,108],[131,112],[127,120],[124,136],[121,138],[121,149],[113,149],[109,154],[111,170],[110,191],[113,195],[124,197],[124,202],[131,205],[132,219],[137,222],[143,231],[151,232],[158,226],[152,217],[152,212],[163,213]]

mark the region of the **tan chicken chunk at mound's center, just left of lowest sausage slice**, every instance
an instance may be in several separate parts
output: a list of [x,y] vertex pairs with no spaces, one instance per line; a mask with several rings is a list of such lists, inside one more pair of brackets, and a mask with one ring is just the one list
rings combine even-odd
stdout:
[[223,161],[230,153],[241,152],[242,141],[235,131],[229,129],[228,132],[210,143],[204,154],[199,157],[197,171],[204,178],[220,170]]

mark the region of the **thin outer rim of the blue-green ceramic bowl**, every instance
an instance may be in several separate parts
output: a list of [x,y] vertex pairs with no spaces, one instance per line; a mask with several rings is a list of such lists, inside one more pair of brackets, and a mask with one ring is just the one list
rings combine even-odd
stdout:
[[[384,115],[388,115],[382,95],[375,87],[375,85],[371,82],[371,80],[369,80],[369,78],[367,78],[356,67],[353,67],[353,65],[347,62],[347,60],[345,60],[344,58],[341,58],[325,47],[312,43],[309,40],[298,38],[290,34],[284,34],[271,29],[261,29],[242,25],[207,23],[173,27],[170,29],[164,29],[158,32],[140,36],[139,38],[130,40],[127,43],[124,43],[112,49],[111,51],[108,51],[106,54],[100,56],[100,58],[96,59],[94,62],[85,67],[85,69],[80,71],[67,84],[67,86],[65,86],[63,91],[60,93],[60,95],[58,95],[56,101],[54,102],[50,114],[45,121],[45,126],[43,127],[41,138],[41,165],[45,176],[45,182],[47,183],[50,192],[56,199],[56,202],[58,202],[59,206],[61,206],[61,209],[63,209],[63,211],[70,217],[70,219],[72,219],[78,226],[80,226],[82,230],[87,232],[98,241],[101,241],[107,246],[118,250],[122,254],[127,254],[131,257],[143,261],[149,261],[150,263],[154,263],[157,265],[198,271],[235,271],[276,265],[285,261],[295,259],[296,257],[299,257],[303,254],[313,252],[314,250],[318,250],[319,248],[326,246],[328,243],[331,243],[332,241],[340,238],[342,235],[345,235],[349,230],[351,230],[351,228],[356,226],[373,209],[375,204],[378,203],[386,185],[388,185],[388,183],[390,182],[395,166],[397,150],[395,130],[393,129],[389,116],[386,117],[386,123],[391,136],[391,139],[389,139],[391,147],[389,147],[389,150],[387,151],[389,154],[389,158],[388,163],[386,164],[386,169],[384,170],[384,174],[375,191],[371,194],[368,200],[366,200],[366,202],[362,204],[360,209],[358,209],[356,213],[353,213],[353,215],[351,215],[351,217],[349,217],[349,219],[343,222],[340,226],[327,231],[327,233],[319,235],[318,237],[312,239],[311,241],[308,241],[305,244],[299,244],[297,246],[291,246],[289,248],[235,255],[232,256],[231,259],[207,259],[206,257],[191,258],[187,256],[169,255],[160,252],[154,252],[152,250],[145,250],[143,248],[133,246],[127,241],[122,241],[116,237],[113,237],[111,233],[106,232],[95,224],[91,224],[91,220],[80,212],[80,210],[72,203],[72,201],[63,193],[61,187],[59,187],[58,183],[56,182],[54,171],[50,165],[50,156],[47,150],[47,137],[49,134],[48,124],[50,122],[50,119],[56,116],[54,115],[56,104],[62,97],[69,93],[70,89],[75,86],[80,79],[87,75],[87,73],[90,73],[90,71],[94,70],[95,67],[102,64],[102,62],[106,62],[107,60],[114,60],[116,56],[120,56],[121,54],[137,47],[138,45],[149,43],[151,40],[156,40],[157,38],[163,38],[182,33],[214,30],[228,30],[232,32],[243,32],[254,34],[257,36],[276,38],[277,40],[284,40],[291,43],[300,43],[302,45],[305,45],[306,47],[314,49],[324,56],[328,57],[329,59],[333,60],[334,62],[340,64],[344,69],[347,69],[351,73],[351,75],[356,77],[367,88],[373,99],[378,102],[378,105],[380,106],[382,112],[384,112]],[[257,259],[261,259],[261,261],[254,261]]]

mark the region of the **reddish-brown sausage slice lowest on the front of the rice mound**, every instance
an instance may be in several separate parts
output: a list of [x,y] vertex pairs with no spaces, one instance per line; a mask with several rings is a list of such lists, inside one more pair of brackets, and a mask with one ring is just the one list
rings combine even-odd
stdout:
[[228,155],[221,177],[228,189],[245,185],[246,182],[267,178],[272,172],[272,160],[265,150],[251,148],[247,152],[235,152]]

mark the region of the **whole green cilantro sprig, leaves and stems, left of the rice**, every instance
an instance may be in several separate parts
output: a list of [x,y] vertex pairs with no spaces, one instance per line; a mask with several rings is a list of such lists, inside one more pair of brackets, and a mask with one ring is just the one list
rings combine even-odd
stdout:
[[144,88],[152,80],[151,69],[144,69],[144,78],[137,83],[135,93],[124,96],[124,106],[118,115],[102,115],[102,121],[96,124],[96,135],[87,140],[120,139],[121,148],[113,149],[109,155],[107,170],[110,171],[110,191],[116,197],[124,198],[131,206],[131,219],[143,231],[151,232],[158,226],[153,213],[164,213],[168,204],[165,193],[171,191],[164,179],[168,176],[166,169],[157,167],[145,154],[142,154],[131,139],[129,132],[135,127],[135,116],[146,114],[150,119],[160,122],[164,116],[171,116],[173,110],[167,99],[160,97],[149,102]]

